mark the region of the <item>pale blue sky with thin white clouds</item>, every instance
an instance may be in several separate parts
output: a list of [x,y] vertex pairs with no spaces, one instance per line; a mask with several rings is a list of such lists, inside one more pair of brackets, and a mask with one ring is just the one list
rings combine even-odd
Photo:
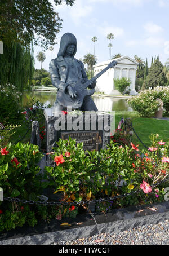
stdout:
[[[75,0],[72,7],[63,3],[54,9],[63,19],[63,25],[57,34],[58,44],[54,46],[52,59],[56,58],[60,38],[66,32],[77,38],[77,59],[83,59],[88,52],[94,54],[91,38],[96,36],[97,63],[108,60],[108,33],[114,34],[112,55],[118,52],[131,58],[138,55],[144,60],[148,58],[148,65],[152,56],[159,55],[163,64],[169,58],[169,0]],[[34,46],[34,56],[38,51],[42,48]],[[48,70],[50,50],[45,55],[42,67]],[[35,68],[40,68],[36,58]]]

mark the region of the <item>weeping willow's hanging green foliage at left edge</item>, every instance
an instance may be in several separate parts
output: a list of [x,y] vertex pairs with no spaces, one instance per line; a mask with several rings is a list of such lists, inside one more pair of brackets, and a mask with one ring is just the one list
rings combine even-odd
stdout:
[[24,47],[17,42],[4,43],[0,55],[0,85],[11,83],[22,92],[31,85],[34,71],[33,44]]

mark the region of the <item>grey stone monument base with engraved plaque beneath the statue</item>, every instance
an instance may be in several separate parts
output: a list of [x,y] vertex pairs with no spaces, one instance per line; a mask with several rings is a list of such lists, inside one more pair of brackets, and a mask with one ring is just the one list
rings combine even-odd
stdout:
[[[46,119],[46,152],[54,151],[59,139],[75,139],[83,142],[83,149],[99,151],[110,142],[110,124],[113,116],[103,112],[80,112],[80,114],[53,113],[52,108],[44,111]],[[114,128],[114,127],[113,127]],[[115,130],[115,129],[113,129]],[[54,166],[54,161],[47,155],[47,165]]]

